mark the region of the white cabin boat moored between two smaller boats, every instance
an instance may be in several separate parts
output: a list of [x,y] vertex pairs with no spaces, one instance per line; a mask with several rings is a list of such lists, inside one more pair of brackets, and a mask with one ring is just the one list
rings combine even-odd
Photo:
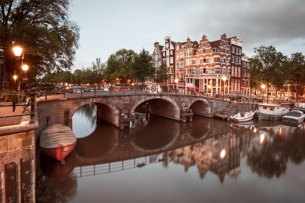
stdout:
[[290,111],[289,107],[281,104],[258,104],[258,120],[281,120]]

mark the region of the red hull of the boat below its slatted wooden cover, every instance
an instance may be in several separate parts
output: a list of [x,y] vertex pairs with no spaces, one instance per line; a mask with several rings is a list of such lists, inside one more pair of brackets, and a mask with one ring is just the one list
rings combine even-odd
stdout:
[[48,157],[62,162],[74,150],[75,145],[76,143],[57,148],[42,148],[42,152]]

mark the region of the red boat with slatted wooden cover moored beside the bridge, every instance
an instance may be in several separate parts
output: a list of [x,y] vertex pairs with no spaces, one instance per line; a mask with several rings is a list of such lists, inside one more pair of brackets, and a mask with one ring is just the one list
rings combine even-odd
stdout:
[[64,164],[64,159],[75,148],[76,137],[68,126],[54,124],[41,132],[39,147],[42,152]]

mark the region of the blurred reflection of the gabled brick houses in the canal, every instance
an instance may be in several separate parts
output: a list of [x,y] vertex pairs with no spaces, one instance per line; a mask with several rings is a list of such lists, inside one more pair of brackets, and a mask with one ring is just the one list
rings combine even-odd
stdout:
[[214,136],[191,146],[174,150],[173,162],[184,165],[185,171],[197,166],[201,179],[210,170],[224,181],[225,174],[237,177],[240,170],[241,137],[229,133]]

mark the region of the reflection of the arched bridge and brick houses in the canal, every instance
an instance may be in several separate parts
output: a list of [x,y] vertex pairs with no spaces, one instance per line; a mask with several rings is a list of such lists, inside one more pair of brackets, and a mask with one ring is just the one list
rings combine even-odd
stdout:
[[[249,139],[247,129],[244,129],[245,133],[242,135],[236,136],[230,123],[221,120],[197,118],[193,123],[181,124],[161,119],[160,122],[169,130],[162,135],[161,141],[153,144],[150,138],[155,138],[156,135],[149,133],[152,130],[150,125],[161,125],[153,122],[150,121],[143,129],[145,131],[141,129],[136,136],[129,134],[129,131],[107,128],[105,134],[112,131],[115,136],[104,137],[105,140],[100,142],[105,144],[108,141],[108,147],[106,144],[102,148],[96,145],[96,150],[92,150],[95,147],[87,144],[92,143],[88,141],[90,136],[93,136],[90,139],[96,142],[95,135],[101,133],[98,128],[87,137],[88,140],[79,139],[76,151],[71,155],[75,156],[74,174],[78,177],[91,176],[158,163],[164,167],[171,163],[181,164],[186,171],[189,167],[196,166],[201,178],[209,170],[218,174],[220,180],[223,180],[226,173],[232,176],[239,173],[241,148],[247,145]],[[145,135],[145,139],[142,139],[144,137],[141,135]],[[86,146],[90,146],[91,150],[86,149]],[[224,152],[225,155],[221,157]],[[69,165],[69,159],[66,164]]]

